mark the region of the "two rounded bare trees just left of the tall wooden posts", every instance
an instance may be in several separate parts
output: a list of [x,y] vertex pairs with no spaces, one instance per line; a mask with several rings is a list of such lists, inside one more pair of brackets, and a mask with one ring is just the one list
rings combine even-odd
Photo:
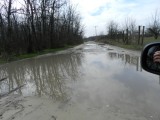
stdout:
[[136,20],[133,18],[126,18],[122,28],[120,28],[120,25],[117,22],[112,20],[107,25],[107,36],[110,40],[117,40],[124,44],[130,44],[131,42],[134,42],[135,39],[137,39],[136,42],[138,41],[138,38],[136,37],[139,33],[137,28]]

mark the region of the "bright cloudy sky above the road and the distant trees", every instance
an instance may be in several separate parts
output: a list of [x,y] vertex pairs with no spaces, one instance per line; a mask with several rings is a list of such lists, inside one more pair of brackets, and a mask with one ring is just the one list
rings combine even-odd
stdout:
[[85,36],[106,34],[106,25],[114,20],[122,26],[127,17],[136,20],[137,25],[146,25],[158,9],[160,0],[70,0],[77,5],[85,25]]

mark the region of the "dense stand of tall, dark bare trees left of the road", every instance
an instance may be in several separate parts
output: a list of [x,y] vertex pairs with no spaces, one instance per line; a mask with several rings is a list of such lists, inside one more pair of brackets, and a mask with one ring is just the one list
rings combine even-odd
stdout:
[[[19,6],[15,6],[15,2]],[[0,55],[32,53],[82,42],[83,26],[76,8],[65,0],[0,2]]]

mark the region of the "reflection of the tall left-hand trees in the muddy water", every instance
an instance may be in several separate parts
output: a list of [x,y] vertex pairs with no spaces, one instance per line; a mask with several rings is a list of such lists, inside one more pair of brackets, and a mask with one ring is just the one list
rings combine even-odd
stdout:
[[25,88],[19,90],[23,95],[66,99],[66,82],[78,79],[82,59],[82,54],[69,53],[4,65],[0,68],[1,78],[8,77],[8,80],[2,83],[1,91],[7,92],[25,84]]

